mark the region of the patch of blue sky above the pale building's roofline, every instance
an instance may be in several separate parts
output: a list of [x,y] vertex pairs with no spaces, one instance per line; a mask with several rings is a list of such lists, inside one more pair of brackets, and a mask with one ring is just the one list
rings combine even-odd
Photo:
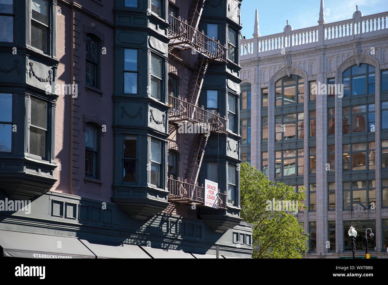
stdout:
[[[351,19],[356,5],[359,5],[364,16],[388,10],[388,0],[324,0],[325,13],[330,13],[325,14],[325,21],[329,23]],[[317,25],[319,7],[320,0],[242,0],[241,33],[247,39],[252,38],[256,9],[260,34],[266,36],[282,32],[287,19],[293,29]]]

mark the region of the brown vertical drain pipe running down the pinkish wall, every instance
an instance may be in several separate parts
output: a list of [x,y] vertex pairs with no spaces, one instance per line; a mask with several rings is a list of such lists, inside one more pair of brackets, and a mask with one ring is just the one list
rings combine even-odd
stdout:
[[[74,0],[71,0],[70,7],[70,83],[74,86]],[[72,90],[74,91],[74,90]],[[70,96],[70,151],[69,151],[69,194],[73,195],[73,115],[74,115],[74,98]]]

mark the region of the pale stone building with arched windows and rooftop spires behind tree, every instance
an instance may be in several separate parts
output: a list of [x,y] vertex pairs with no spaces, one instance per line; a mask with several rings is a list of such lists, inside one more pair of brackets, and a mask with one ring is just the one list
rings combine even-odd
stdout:
[[253,38],[241,40],[241,128],[251,122],[241,158],[270,180],[305,186],[307,257],[351,256],[353,225],[356,257],[371,228],[368,253],[386,258],[388,12],[363,16],[356,6],[349,16],[326,23],[321,0],[317,26],[293,30],[287,20],[261,36],[256,10]]

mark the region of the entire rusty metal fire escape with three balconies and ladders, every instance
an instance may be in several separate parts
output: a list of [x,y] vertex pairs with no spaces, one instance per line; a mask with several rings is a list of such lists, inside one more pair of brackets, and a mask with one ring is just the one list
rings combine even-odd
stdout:
[[[204,3],[205,0],[193,1],[189,24],[180,17],[174,17],[172,12],[170,14],[169,53],[172,54],[172,50],[177,48],[178,50],[192,50],[192,54],[199,54],[199,56],[187,98],[184,99],[180,96],[177,98],[172,93],[169,95],[169,134],[176,130],[177,123],[192,123],[208,128],[211,133],[226,134],[226,117],[222,118],[219,113],[215,114],[205,110],[203,106],[198,106],[199,94],[209,63],[211,61],[226,62],[227,50],[226,45],[221,45],[220,41],[209,38],[203,31],[198,30]],[[172,176],[168,178],[169,201],[189,204],[192,202],[196,204],[204,203],[204,188],[203,185],[202,187],[198,185],[198,176],[208,138],[209,136],[204,133],[197,134],[185,180],[173,179]],[[225,208],[226,193],[219,194],[218,207]]]

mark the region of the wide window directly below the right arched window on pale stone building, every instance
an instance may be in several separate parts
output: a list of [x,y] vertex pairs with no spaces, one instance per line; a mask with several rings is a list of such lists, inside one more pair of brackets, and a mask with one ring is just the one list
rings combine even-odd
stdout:
[[[357,105],[343,107],[343,135],[351,133],[369,132],[376,128],[375,125],[375,105]],[[366,130],[368,128],[368,130]]]

